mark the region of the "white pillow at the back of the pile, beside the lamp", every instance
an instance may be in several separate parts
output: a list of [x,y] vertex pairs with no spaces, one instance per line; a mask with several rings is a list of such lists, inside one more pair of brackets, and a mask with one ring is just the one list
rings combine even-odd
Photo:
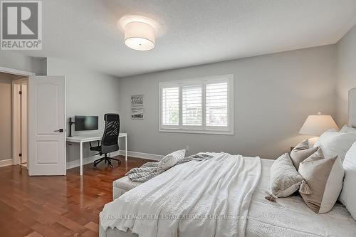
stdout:
[[338,155],[341,161],[343,161],[346,152],[355,141],[356,133],[329,130],[319,137],[314,147],[319,146],[321,148],[325,159],[331,159]]

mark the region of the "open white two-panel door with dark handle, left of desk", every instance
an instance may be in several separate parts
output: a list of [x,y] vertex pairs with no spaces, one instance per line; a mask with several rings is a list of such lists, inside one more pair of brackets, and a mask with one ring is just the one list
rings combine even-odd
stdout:
[[28,174],[66,175],[66,78],[28,80]]

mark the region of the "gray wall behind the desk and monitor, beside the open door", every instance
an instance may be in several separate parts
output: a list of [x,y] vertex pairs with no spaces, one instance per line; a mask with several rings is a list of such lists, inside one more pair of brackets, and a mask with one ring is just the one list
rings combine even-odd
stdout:
[[[74,117],[74,115],[99,116],[99,130],[73,133],[102,133],[104,130],[104,114],[119,112],[119,78],[95,72],[78,63],[56,58],[47,58],[46,69],[48,75],[66,75],[67,117]],[[90,157],[93,154],[95,153],[89,151],[89,144],[85,143],[83,157]],[[68,145],[67,161],[78,159],[78,156],[78,143]]]

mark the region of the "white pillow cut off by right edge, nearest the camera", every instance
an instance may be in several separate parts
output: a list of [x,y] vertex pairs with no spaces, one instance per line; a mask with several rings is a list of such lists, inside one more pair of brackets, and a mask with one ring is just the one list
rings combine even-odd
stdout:
[[345,170],[345,179],[340,201],[356,220],[356,142],[352,144],[352,147],[346,153],[342,166]]

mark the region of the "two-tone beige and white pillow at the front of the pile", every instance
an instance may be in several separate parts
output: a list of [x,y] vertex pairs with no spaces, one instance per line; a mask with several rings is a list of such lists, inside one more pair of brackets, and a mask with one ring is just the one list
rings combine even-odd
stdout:
[[305,204],[317,214],[333,209],[345,173],[340,158],[324,159],[323,152],[318,149],[300,163],[299,173],[310,188],[310,194],[300,192]]

